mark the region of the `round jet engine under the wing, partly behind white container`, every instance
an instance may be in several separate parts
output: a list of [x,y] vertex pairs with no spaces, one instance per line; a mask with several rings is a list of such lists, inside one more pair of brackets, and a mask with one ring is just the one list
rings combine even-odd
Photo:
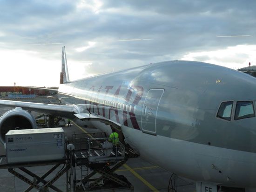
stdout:
[[20,107],[7,111],[0,117],[0,141],[5,144],[5,134],[14,129],[35,129],[36,122],[30,113]]

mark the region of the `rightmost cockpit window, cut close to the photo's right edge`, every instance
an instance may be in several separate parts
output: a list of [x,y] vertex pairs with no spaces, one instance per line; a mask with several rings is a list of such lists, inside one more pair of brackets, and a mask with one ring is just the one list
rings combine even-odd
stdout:
[[236,102],[235,120],[255,117],[252,101]]

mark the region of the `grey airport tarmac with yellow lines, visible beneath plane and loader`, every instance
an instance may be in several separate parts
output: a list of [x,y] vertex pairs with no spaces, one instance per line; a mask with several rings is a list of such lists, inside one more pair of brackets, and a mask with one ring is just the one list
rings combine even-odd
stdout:
[[[30,102],[38,102],[38,103],[48,103],[49,99],[45,97],[39,97],[34,99],[21,99],[22,101],[30,101]],[[50,99],[52,102],[56,100]],[[5,113],[6,111],[12,108],[9,107],[0,107],[0,115]],[[32,115],[36,115],[37,113],[32,113]],[[62,127],[65,131],[65,135],[71,140],[72,134],[74,133],[85,133],[85,132],[95,132],[99,130],[85,128],[76,125],[72,122],[72,127]],[[0,155],[5,154],[5,149],[3,145],[0,145]],[[53,166],[37,166],[37,167],[29,167],[28,170],[42,176],[45,172],[47,172]],[[50,174],[47,179],[51,179],[56,172],[60,171],[62,166],[58,167],[52,174]],[[24,176],[27,176],[26,173],[21,172],[18,168],[15,171],[22,173]],[[116,172],[116,174],[124,175],[130,183],[134,186],[134,192],[167,192],[169,179],[172,175],[171,172],[167,172],[162,168],[155,166],[141,158],[133,158],[129,159],[124,166],[121,166]],[[28,177],[29,178],[29,177]],[[195,192],[195,183],[179,178],[175,175],[172,176],[175,178],[176,192]],[[33,178],[31,178],[33,180]],[[173,183],[174,184],[174,183]],[[11,173],[8,172],[7,169],[0,170],[0,185],[1,191],[3,192],[22,192],[29,187],[25,182],[14,177]],[[66,174],[62,175],[60,179],[58,179],[54,186],[58,187],[63,192],[66,191]],[[171,187],[171,185],[169,185]],[[37,189],[33,189],[33,192],[38,191]],[[49,189],[49,191],[53,191]],[[98,190],[99,191],[99,190]],[[101,192],[103,190],[100,190]],[[109,190],[105,190],[109,191]],[[105,192],[104,191],[104,192]],[[113,191],[113,190],[111,190]],[[118,191],[118,190],[114,190]],[[127,190],[122,190],[127,191]],[[172,190],[169,190],[173,192]]]

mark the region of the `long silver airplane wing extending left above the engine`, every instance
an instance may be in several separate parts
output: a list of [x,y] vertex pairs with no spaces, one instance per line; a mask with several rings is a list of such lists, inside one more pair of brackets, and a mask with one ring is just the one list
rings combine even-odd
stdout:
[[47,113],[50,115],[69,118],[72,117],[74,113],[79,113],[79,108],[75,105],[53,105],[13,100],[0,100],[0,105],[10,107],[21,107],[22,109],[28,111]]

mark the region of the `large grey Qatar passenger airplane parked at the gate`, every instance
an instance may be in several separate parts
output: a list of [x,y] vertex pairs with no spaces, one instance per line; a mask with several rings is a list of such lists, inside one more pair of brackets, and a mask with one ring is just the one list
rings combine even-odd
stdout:
[[69,80],[65,46],[60,105],[0,100],[16,107],[0,118],[0,140],[19,127],[36,128],[30,111],[93,125],[142,159],[196,182],[197,192],[219,186],[256,191],[256,79],[196,61],[165,61]]

